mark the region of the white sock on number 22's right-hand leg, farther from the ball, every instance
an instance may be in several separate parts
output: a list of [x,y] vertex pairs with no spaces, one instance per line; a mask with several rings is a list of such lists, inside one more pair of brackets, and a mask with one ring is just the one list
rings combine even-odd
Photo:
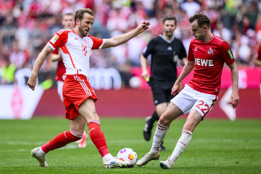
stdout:
[[170,158],[173,159],[173,161],[176,161],[178,157],[181,155],[181,153],[185,150],[185,148],[190,143],[190,140],[192,138],[193,133],[188,130],[182,130],[181,137],[178,140],[178,143],[172,152]]

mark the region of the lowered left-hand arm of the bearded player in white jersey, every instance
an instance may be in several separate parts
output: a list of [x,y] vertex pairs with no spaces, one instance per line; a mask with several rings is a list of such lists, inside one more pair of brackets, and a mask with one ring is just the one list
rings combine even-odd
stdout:
[[34,91],[34,88],[36,86],[36,77],[38,75],[39,69],[41,68],[43,62],[45,61],[45,58],[53,51],[53,49],[49,45],[45,45],[45,47],[42,49],[42,51],[39,53],[34,65],[33,70],[30,75],[30,78],[27,82],[27,85],[29,88],[31,88]]

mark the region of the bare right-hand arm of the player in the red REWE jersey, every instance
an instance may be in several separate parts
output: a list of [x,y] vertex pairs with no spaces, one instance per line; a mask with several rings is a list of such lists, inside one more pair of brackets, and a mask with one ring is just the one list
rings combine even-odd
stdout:
[[238,68],[236,62],[228,66],[231,69],[231,78],[232,78],[232,93],[230,95],[230,103],[232,102],[233,109],[236,108],[239,102],[238,95]]

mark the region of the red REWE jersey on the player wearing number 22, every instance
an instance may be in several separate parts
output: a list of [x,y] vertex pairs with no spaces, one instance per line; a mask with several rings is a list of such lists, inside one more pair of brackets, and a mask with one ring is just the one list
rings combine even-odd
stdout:
[[188,61],[195,61],[193,79],[188,85],[196,91],[218,96],[224,63],[235,62],[228,42],[213,34],[208,42],[192,39]]

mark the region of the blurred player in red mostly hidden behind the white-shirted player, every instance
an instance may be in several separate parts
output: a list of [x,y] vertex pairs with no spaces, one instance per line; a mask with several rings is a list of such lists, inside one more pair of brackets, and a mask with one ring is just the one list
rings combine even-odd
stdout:
[[[75,26],[74,23],[74,15],[72,13],[65,13],[62,15],[62,25],[63,28],[69,28],[72,29]],[[52,37],[54,37],[55,33],[53,34]],[[55,76],[55,80],[57,82],[57,91],[59,94],[59,97],[63,103],[63,97],[62,97],[62,86],[63,86],[63,80],[62,80],[62,75],[65,74],[66,72],[66,68],[63,64],[62,61],[62,56],[59,52],[59,49],[55,49],[51,54],[50,54],[50,58],[53,62],[58,61],[57,64],[57,70],[56,70],[56,76]],[[78,144],[78,147],[86,147],[86,138],[88,137],[87,133],[84,131],[83,132],[83,138],[75,141]]]

